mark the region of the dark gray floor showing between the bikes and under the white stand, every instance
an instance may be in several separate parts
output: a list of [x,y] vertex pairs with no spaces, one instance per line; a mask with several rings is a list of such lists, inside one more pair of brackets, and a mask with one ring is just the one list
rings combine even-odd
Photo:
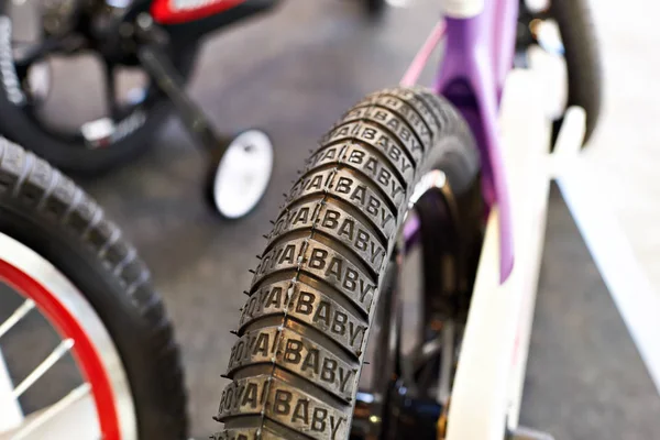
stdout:
[[[436,16],[436,1],[367,24],[348,0],[288,0],[274,15],[205,46],[193,96],[219,128],[265,128],[274,183],[241,221],[205,205],[204,158],[178,122],[148,155],[86,188],[152,268],[183,345],[193,435],[208,436],[226,381],[248,268],[307,151],[362,95],[395,84]],[[522,422],[558,439],[660,439],[660,398],[561,197],[553,190]]]

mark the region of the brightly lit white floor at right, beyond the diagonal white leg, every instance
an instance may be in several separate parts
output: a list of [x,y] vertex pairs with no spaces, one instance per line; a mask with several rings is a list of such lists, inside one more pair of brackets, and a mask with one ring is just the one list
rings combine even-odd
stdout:
[[605,111],[588,152],[637,260],[660,295],[660,3],[591,0],[606,74]]

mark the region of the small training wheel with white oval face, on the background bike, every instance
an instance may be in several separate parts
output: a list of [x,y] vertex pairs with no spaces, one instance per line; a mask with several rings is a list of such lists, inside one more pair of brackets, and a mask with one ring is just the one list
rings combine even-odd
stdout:
[[273,143],[261,130],[238,134],[221,157],[213,157],[209,201],[222,217],[238,219],[261,200],[273,172]]

